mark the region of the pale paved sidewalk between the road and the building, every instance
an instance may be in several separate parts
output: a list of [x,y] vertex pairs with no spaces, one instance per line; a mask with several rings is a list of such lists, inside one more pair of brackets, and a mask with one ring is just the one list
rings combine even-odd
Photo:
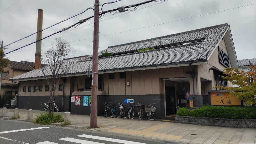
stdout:
[[[7,109],[7,117],[13,116],[13,109]],[[33,111],[33,116],[44,111]],[[17,120],[26,121],[28,110],[20,109],[20,118]],[[58,113],[62,114],[62,113]],[[0,109],[2,116],[2,109]],[[86,129],[90,126],[90,116],[70,115],[71,125],[69,127]],[[60,125],[55,123],[54,125]],[[97,117],[96,128],[98,131],[136,135],[159,140],[176,141],[181,143],[198,144],[256,144],[256,129],[228,128],[217,126],[204,126],[193,124],[179,124],[171,121],[147,121],[137,119],[112,118],[110,116]]]

